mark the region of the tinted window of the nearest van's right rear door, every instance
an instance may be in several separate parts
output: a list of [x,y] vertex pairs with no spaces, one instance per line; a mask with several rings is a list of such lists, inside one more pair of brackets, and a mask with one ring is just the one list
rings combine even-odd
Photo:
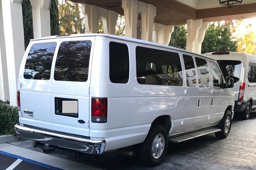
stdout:
[[62,42],[56,59],[54,80],[86,82],[91,46],[91,41]]

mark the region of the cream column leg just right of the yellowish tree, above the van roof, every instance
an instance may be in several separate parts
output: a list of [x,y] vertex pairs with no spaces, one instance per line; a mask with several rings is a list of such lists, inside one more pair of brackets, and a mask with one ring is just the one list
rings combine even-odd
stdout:
[[99,26],[97,6],[82,3],[82,13],[86,33],[97,33]]

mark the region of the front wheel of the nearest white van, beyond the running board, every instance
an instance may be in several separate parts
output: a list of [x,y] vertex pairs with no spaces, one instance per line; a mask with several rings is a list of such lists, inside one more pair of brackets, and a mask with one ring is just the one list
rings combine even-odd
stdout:
[[219,125],[217,126],[218,128],[221,129],[220,132],[216,132],[215,135],[218,138],[227,138],[230,129],[231,129],[231,125],[232,125],[232,114],[229,110],[225,111],[224,117],[221,119]]

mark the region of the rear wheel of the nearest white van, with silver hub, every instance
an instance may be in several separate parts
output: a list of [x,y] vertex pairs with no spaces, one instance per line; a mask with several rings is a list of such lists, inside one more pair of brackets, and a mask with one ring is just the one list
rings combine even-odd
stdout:
[[[157,139],[161,142],[161,144],[159,144],[159,141],[156,141]],[[154,154],[152,151],[152,149],[156,147],[159,147],[157,148],[157,152],[159,152],[159,154]],[[159,165],[164,160],[165,154],[167,152],[167,147],[168,134],[166,128],[162,125],[154,125],[150,128],[145,141],[135,146],[135,157],[140,164],[154,167],[156,165]]]

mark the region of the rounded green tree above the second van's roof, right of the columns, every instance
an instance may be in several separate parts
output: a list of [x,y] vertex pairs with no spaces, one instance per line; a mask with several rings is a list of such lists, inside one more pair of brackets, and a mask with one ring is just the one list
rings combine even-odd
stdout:
[[230,28],[212,23],[206,30],[201,53],[214,51],[237,51],[237,42],[232,40]]

